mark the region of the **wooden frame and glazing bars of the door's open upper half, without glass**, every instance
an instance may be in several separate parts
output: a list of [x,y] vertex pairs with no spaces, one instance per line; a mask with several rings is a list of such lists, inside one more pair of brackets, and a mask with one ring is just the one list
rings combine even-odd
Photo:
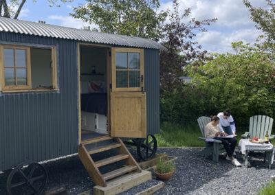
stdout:
[[[140,87],[124,87],[124,88],[116,87],[115,52],[139,53],[140,54],[140,76],[143,76],[143,80],[142,80],[142,82],[140,82]],[[143,91],[143,89],[144,89],[144,49],[112,47],[111,54],[112,54],[111,55],[112,91]],[[128,63],[129,62],[127,60],[127,65],[128,65]],[[129,72],[129,69],[126,69],[125,71]],[[132,71],[134,71],[134,70],[132,70]],[[129,83],[129,74],[128,74],[128,83]]]

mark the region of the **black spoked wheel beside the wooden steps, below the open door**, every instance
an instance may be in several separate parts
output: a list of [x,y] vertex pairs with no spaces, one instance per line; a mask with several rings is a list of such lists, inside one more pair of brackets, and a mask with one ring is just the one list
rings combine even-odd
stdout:
[[137,155],[143,161],[148,161],[155,157],[157,152],[157,139],[153,135],[147,135],[146,139],[139,139],[137,142]]

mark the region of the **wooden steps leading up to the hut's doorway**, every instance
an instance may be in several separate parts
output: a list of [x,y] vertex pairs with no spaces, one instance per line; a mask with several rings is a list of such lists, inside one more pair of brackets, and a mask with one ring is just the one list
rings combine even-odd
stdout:
[[[97,144],[100,146],[97,146]],[[91,157],[91,154],[96,154],[111,149],[117,150],[118,154],[107,157],[106,159],[100,159],[99,161],[94,161]],[[135,159],[133,159],[131,153],[127,150],[120,138],[104,136],[97,139],[82,141],[81,144],[78,145],[78,155],[94,183],[103,187],[107,186],[107,180],[109,179],[122,176],[128,172],[142,172],[142,169],[137,164]],[[112,170],[111,172],[102,174],[98,169],[101,166],[109,165],[122,160],[124,160],[124,165],[121,168]]]

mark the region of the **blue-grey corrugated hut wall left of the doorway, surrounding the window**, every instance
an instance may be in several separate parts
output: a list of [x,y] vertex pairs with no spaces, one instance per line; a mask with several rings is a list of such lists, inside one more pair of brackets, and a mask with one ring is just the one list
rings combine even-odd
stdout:
[[[4,77],[9,78],[6,80],[8,84],[12,83],[12,92],[3,88],[0,92],[0,170],[13,168],[22,162],[43,161],[77,152],[76,41],[0,32],[0,45],[2,51],[5,45],[15,49],[7,51],[10,53],[7,69],[17,71],[17,74],[8,73]],[[25,50],[17,51],[14,46]],[[2,59],[3,53],[0,56]],[[21,62],[12,67],[19,58]],[[27,73],[22,73],[21,69]],[[30,77],[25,76],[28,69]],[[0,78],[4,80],[3,74]],[[31,87],[26,87],[28,84]],[[22,86],[25,89],[21,89]]]

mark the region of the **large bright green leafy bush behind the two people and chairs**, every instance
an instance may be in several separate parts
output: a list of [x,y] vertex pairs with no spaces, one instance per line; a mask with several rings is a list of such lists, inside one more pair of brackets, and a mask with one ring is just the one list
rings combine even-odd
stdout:
[[[270,54],[242,42],[232,47],[236,54],[213,54],[205,65],[189,67],[193,80],[188,88],[197,89],[197,99],[203,98],[190,101],[192,108],[199,115],[213,115],[230,107],[237,122],[248,122],[252,115],[274,117],[275,65]],[[187,95],[188,100],[196,98]]]

